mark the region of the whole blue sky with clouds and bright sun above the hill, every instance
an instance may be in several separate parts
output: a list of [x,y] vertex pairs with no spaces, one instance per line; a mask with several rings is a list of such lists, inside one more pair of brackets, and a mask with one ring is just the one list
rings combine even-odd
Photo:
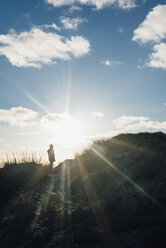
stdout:
[[165,132],[165,27],[164,0],[1,0],[1,161]]

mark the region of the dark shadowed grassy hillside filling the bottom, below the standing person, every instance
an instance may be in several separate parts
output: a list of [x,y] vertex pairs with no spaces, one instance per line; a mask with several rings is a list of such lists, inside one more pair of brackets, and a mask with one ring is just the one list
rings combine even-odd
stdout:
[[0,169],[1,248],[166,247],[166,134],[96,141],[74,160]]

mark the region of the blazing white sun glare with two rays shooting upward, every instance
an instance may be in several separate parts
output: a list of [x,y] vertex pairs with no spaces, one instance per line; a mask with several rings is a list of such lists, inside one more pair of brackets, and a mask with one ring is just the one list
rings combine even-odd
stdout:
[[[63,103],[65,112],[58,112],[56,108],[54,109],[54,100],[52,100],[53,102],[50,100],[47,104],[41,103],[36,96],[20,88],[21,92],[40,110],[34,125],[29,127],[30,131],[28,130],[27,133],[33,134],[36,130],[38,131],[39,137],[33,143],[42,150],[49,144],[54,144],[56,151],[58,151],[56,153],[56,160],[58,162],[74,157],[74,154],[85,146],[86,139],[83,123],[69,112],[72,86],[72,67],[70,64],[65,84],[66,97]],[[33,139],[33,135],[28,136],[31,136],[31,140]],[[45,160],[46,158],[44,156]]]

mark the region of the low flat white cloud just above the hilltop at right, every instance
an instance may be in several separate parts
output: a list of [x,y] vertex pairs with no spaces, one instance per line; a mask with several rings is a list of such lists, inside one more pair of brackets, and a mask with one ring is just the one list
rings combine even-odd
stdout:
[[113,123],[116,125],[116,128],[121,131],[149,131],[150,129],[166,129],[166,121],[152,121],[149,117],[145,116],[121,116],[113,120]]

